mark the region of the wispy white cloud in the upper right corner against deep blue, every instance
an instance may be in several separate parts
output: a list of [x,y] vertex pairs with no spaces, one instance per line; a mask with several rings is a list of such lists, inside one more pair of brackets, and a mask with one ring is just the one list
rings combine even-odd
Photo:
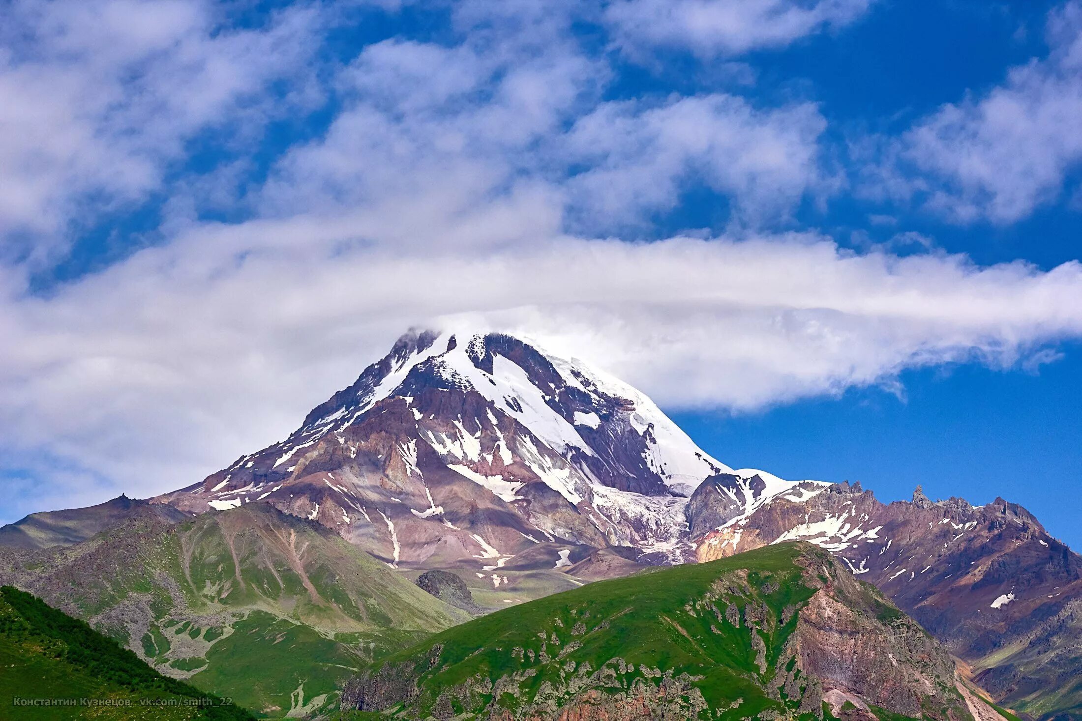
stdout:
[[1082,4],[1051,13],[1048,42],[1046,57],[888,142],[886,183],[876,168],[871,186],[959,223],[1013,223],[1056,201],[1082,166]]

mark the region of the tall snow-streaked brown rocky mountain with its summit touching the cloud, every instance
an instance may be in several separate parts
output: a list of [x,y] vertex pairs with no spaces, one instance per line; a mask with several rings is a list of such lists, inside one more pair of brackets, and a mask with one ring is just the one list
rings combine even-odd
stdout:
[[270,504],[393,566],[553,569],[606,547],[674,563],[695,558],[688,496],[723,472],[646,396],[579,361],[420,332],[285,441],[156,500]]

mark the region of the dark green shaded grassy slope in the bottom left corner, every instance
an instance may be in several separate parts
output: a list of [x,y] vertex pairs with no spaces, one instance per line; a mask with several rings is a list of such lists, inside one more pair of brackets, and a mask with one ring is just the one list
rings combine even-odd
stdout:
[[[0,707],[5,719],[215,719],[252,716],[161,676],[81,620],[11,586],[0,587]],[[51,706],[16,700],[55,699]],[[107,699],[90,706],[80,699]],[[210,705],[196,705],[209,699]],[[158,705],[150,705],[160,702]]]

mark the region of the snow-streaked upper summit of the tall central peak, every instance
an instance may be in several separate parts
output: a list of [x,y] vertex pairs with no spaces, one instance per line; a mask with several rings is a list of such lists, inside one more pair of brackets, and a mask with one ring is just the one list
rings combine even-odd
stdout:
[[609,430],[606,424],[613,420],[626,423],[643,439],[642,462],[677,495],[690,495],[709,476],[730,472],[645,393],[613,376],[549,353],[536,342],[462,329],[399,338],[348,392],[317,409],[320,414],[313,412],[290,445],[308,440],[307,436],[341,431],[387,398],[409,397],[412,390],[406,386],[415,385],[408,383],[411,374],[422,371],[437,382],[479,393],[563,456],[596,455],[592,444],[596,439],[583,436],[604,435]]

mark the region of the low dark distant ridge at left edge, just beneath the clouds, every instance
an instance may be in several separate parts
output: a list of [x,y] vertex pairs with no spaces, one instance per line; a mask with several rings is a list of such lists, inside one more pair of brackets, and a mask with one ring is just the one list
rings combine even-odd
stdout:
[[104,504],[87,508],[30,513],[0,526],[0,548],[48,548],[70,546],[128,519],[159,518],[175,523],[190,513],[171,506],[136,500],[121,494]]

